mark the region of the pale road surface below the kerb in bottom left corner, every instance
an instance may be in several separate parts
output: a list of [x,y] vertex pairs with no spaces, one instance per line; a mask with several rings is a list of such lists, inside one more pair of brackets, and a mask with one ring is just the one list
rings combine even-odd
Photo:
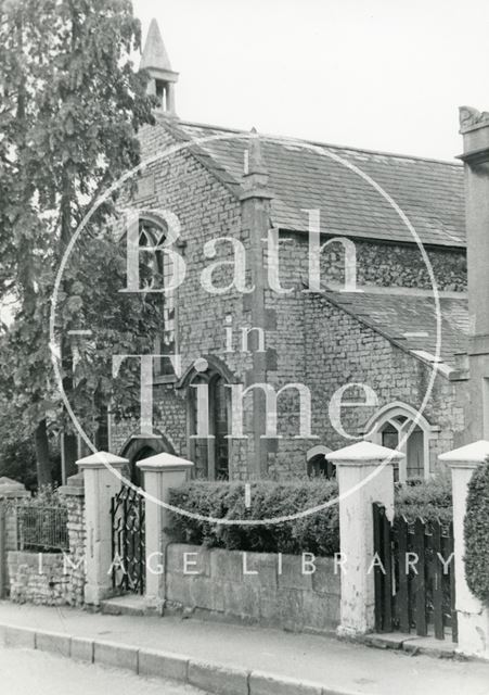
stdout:
[[145,679],[52,654],[0,647],[4,695],[205,695],[190,685]]

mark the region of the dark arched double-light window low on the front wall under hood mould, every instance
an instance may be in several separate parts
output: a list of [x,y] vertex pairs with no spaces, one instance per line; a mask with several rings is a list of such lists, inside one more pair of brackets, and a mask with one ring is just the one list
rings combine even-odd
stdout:
[[[230,440],[229,409],[230,395],[228,383],[223,375],[209,367],[204,372],[198,372],[189,382],[189,430],[190,430],[190,457],[195,464],[195,476],[207,480],[229,479]],[[208,437],[197,434],[197,389],[198,384],[205,384],[204,405],[207,408]]]

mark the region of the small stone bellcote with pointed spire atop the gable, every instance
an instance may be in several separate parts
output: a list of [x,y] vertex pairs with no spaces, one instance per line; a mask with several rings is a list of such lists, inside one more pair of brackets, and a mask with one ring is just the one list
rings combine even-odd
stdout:
[[178,73],[171,70],[170,59],[156,20],[151,21],[139,67],[150,73],[147,92],[157,97],[158,110],[170,116],[177,115],[175,85],[178,81]]

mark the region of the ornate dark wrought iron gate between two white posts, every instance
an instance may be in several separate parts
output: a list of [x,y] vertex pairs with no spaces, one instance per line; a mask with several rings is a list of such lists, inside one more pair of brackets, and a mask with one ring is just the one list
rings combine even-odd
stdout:
[[129,485],[112,497],[112,585],[119,591],[144,593],[144,497]]

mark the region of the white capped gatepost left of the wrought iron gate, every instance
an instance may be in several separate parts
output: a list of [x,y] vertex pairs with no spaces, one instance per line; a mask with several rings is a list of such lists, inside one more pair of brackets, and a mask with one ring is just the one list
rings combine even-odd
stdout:
[[120,470],[127,458],[98,452],[77,460],[85,485],[85,603],[99,606],[112,595],[111,500],[120,490]]

